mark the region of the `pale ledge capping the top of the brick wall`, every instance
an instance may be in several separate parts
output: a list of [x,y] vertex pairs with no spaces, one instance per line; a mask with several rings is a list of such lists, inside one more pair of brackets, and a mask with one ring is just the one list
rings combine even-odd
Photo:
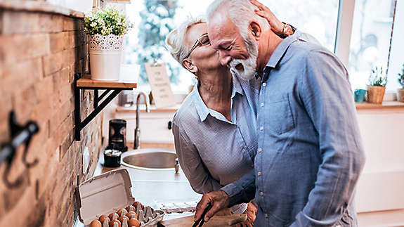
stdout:
[[2,0],[0,1],[0,8],[12,11],[30,11],[41,13],[56,13],[67,15],[72,18],[84,18],[83,12],[74,11],[63,6],[55,6],[46,1],[14,1]]

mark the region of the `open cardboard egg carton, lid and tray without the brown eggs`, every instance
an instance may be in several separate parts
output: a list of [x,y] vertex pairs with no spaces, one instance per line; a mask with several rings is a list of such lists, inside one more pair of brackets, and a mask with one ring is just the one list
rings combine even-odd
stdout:
[[[77,187],[77,208],[79,219],[89,226],[91,221],[101,215],[116,213],[122,207],[128,207],[135,202],[131,193],[131,179],[126,169],[108,171],[94,176]],[[162,221],[164,212],[152,207],[136,205],[136,214],[141,227],[155,227]]]

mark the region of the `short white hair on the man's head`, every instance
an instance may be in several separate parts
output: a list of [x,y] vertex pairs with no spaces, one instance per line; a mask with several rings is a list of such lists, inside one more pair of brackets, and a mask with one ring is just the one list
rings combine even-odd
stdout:
[[238,27],[244,39],[247,38],[249,22],[252,20],[258,21],[264,31],[271,29],[265,18],[256,15],[254,10],[259,10],[259,8],[254,6],[249,0],[216,0],[212,2],[207,8],[206,15],[208,22],[222,7],[227,10],[230,20]]

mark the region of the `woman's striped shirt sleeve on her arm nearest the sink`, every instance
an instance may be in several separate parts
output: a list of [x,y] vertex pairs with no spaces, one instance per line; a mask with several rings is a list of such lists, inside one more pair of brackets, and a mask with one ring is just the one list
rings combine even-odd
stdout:
[[220,183],[213,179],[204,167],[197,148],[190,142],[185,132],[175,123],[172,130],[178,161],[193,190],[200,194],[219,190]]

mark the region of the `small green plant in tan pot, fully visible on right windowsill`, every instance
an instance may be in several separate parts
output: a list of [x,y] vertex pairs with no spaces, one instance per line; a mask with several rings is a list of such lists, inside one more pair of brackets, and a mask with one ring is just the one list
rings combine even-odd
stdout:
[[387,75],[383,67],[374,67],[367,84],[367,102],[380,104],[386,91]]

